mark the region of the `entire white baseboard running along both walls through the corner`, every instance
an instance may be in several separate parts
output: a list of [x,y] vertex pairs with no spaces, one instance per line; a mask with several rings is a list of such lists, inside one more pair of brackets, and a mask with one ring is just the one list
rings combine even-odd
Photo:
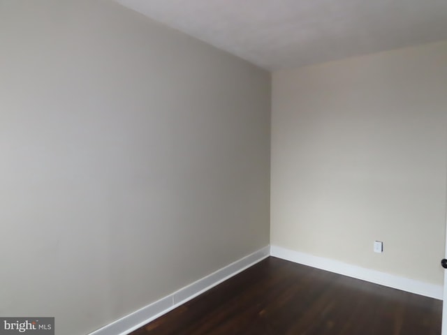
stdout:
[[152,320],[159,318],[161,315],[166,314],[174,308],[184,304],[186,301],[189,301],[203,292],[210,290],[210,288],[213,288],[219,283],[226,281],[226,279],[235,276],[241,271],[244,271],[244,269],[247,269],[261,260],[268,258],[269,255],[282,258],[283,260],[290,260],[291,262],[302,265],[308,265],[309,267],[316,267],[317,269],[323,269],[336,274],[342,274],[344,276],[358,278],[363,281],[388,286],[390,288],[416,293],[417,295],[423,295],[425,297],[440,300],[443,299],[444,288],[442,285],[415,281],[413,279],[395,276],[393,274],[386,274],[385,272],[381,271],[366,269],[356,265],[349,265],[337,260],[330,260],[328,258],[300,253],[298,251],[291,251],[279,246],[265,246],[264,248],[261,248],[258,251],[201,278],[198,281],[191,283],[190,285],[187,285],[184,288],[163,297],[162,299],[159,299],[158,301],[153,302],[152,304],[140,308],[138,311],[126,315],[124,318],[116,320],[115,322],[112,322],[89,335],[129,334],[135,329],[146,325],[148,322],[151,322]]

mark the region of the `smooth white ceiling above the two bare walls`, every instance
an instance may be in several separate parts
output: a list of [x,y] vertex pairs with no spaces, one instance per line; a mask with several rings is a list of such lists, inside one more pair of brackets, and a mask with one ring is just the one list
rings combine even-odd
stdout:
[[447,39],[447,0],[116,0],[267,70]]

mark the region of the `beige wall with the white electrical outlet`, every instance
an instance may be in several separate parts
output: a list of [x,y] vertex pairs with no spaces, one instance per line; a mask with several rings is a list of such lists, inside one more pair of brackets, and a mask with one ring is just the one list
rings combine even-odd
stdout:
[[272,92],[271,244],[441,285],[447,41],[277,72]]

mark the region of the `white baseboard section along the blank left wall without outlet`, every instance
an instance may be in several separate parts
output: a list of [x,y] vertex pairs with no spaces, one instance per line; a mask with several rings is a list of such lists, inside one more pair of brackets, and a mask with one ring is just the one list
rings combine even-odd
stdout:
[[146,325],[148,322],[151,322],[152,320],[159,318],[161,315],[168,313],[168,311],[184,304],[186,301],[189,301],[203,292],[210,290],[210,288],[213,288],[219,283],[226,281],[228,278],[235,276],[235,274],[244,271],[244,269],[261,262],[261,260],[268,258],[269,255],[270,246],[265,246],[264,248],[261,248],[152,304],[140,308],[138,311],[126,315],[124,318],[116,320],[89,335],[129,334],[135,329]]

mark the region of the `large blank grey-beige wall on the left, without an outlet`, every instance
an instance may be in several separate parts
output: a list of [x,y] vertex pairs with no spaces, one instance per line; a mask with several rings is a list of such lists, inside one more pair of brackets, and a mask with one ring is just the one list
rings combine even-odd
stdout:
[[269,73],[112,1],[0,0],[0,45],[0,315],[86,334],[269,243]]

